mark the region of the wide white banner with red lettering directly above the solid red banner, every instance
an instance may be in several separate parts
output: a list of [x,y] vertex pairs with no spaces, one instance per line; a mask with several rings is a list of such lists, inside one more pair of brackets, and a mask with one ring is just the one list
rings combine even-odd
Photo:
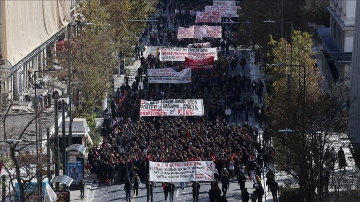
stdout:
[[214,60],[218,59],[218,48],[163,48],[160,50],[160,61],[185,61],[185,57],[201,60],[212,56]]

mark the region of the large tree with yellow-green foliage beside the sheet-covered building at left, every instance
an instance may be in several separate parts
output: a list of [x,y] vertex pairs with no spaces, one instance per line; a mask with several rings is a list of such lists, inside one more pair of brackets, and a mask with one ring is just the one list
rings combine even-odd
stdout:
[[[91,8],[90,8],[91,6]],[[90,12],[91,10],[91,12]],[[117,55],[121,50],[124,56],[133,55],[133,45],[138,41],[146,22],[129,20],[148,20],[155,11],[155,4],[148,0],[91,0],[82,1],[78,12],[85,22],[92,26],[71,26],[78,30],[70,33],[73,45],[70,46],[71,82],[82,84],[81,107],[78,113],[92,113],[99,101],[111,96],[113,90],[113,71],[117,67]],[[67,67],[67,50],[58,53],[60,66]],[[65,73],[63,78],[67,76]],[[74,91],[73,98],[78,96]]]

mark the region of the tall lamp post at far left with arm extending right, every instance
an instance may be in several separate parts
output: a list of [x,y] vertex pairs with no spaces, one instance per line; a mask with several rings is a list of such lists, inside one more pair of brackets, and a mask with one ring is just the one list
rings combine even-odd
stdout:
[[[37,70],[34,71],[34,88],[35,88],[35,98],[34,98],[34,110],[35,110],[35,116],[38,116],[38,107],[37,107],[37,91],[36,91],[36,73],[38,72],[55,72],[55,71],[68,71],[67,69],[51,69],[51,70]],[[38,139],[38,118],[35,118],[35,137],[36,137],[36,179],[39,184],[39,190],[42,191],[42,183],[39,175],[39,139]],[[42,140],[42,137],[40,137],[40,141]],[[40,142],[41,144],[41,142]],[[42,201],[42,200],[41,200]]]

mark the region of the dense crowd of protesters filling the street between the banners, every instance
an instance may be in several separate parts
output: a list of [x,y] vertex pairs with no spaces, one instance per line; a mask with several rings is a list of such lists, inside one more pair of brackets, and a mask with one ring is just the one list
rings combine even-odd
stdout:
[[[174,6],[171,5],[174,2],[170,1],[170,4],[166,4],[168,3],[166,0],[160,2],[158,6],[162,8],[161,11],[164,11],[166,7],[169,8],[170,13],[175,11]],[[177,22],[180,25],[190,26],[194,24],[194,16],[189,13],[194,1],[181,2],[180,6],[176,6],[180,12],[176,13],[172,21],[174,23],[174,19],[178,19]],[[203,8],[197,7],[197,9]],[[171,20],[171,15],[168,17],[159,15],[161,19],[159,23],[163,25],[158,24],[158,28],[164,28],[160,32],[164,32],[166,28],[169,29],[167,21]],[[89,152],[88,161],[90,171],[94,174],[94,182],[100,180],[111,186],[117,182],[125,183],[130,180],[134,182],[134,194],[137,194],[138,185],[141,184],[140,179],[150,183],[147,181],[149,161],[193,160],[214,161],[217,178],[212,186],[214,193],[218,194],[216,188],[218,180],[221,179],[223,185],[235,178],[240,181],[243,179],[243,177],[240,178],[243,172],[247,173],[249,179],[256,181],[255,175],[258,176],[260,170],[265,167],[274,169],[275,163],[275,150],[271,147],[272,131],[266,125],[267,109],[265,105],[261,107],[257,105],[262,102],[264,84],[260,79],[255,81],[245,74],[235,73],[240,72],[241,62],[247,59],[239,60],[237,54],[229,55],[229,44],[227,44],[231,40],[229,35],[225,34],[221,41],[177,40],[176,33],[169,30],[166,42],[171,45],[185,47],[188,44],[209,40],[212,47],[221,46],[226,51],[219,51],[218,60],[215,61],[213,69],[192,71],[193,82],[187,84],[148,83],[146,72],[149,68],[173,68],[180,72],[184,68],[183,63],[160,61],[158,51],[155,55],[145,56],[142,53],[137,55],[141,66],[137,71],[135,81],[129,84],[127,78],[125,84],[118,88],[116,99],[111,104],[111,113],[108,110],[103,112],[101,148],[94,147]],[[169,37],[173,35],[172,33],[175,40]],[[150,41],[152,34],[150,34]],[[156,34],[161,36],[163,33]],[[160,44],[163,44],[162,41]],[[156,45],[155,40],[151,42],[151,45]],[[250,96],[254,91],[259,98],[257,103],[254,103]],[[140,100],[167,99],[203,99],[205,113],[200,117],[139,117]],[[260,127],[262,127],[261,123],[265,125],[266,132],[263,135],[266,138],[262,143],[259,142],[258,129],[247,123],[249,116],[252,115]],[[228,181],[223,182],[226,179]],[[156,182],[151,186],[147,185],[149,189],[150,187],[152,189],[152,186],[156,186]],[[195,190],[196,186],[196,184],[193,185]],[[163,187],[164,191],[170,190],[170,193],[173,189],[171,184],[164,183]],[[183,187],[182,183],[181,188]],[[124,190],[127,195],[128,186]],[[223,187],[224,197],[226,190],[227,187]],[[210,198],[215,197],[214,193],[209,191]],[[151,193],[148,194],[148,200],[149,196],[152,199]],[[193,198],[197,201],[198,195],[194,195]],[[213,199],[218,200],[217,197]]]

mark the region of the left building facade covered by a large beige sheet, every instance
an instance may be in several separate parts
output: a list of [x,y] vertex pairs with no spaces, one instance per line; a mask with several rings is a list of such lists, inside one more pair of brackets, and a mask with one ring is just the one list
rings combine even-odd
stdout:
[[[24,103],[34,91],[34,72],[53,68],[56,42],[63,38],[79,1],[0,1],[1,109],[8,101]],[[43,75],[39,72],[37,77]],[[39,90],[39,95],[47,92]]]

